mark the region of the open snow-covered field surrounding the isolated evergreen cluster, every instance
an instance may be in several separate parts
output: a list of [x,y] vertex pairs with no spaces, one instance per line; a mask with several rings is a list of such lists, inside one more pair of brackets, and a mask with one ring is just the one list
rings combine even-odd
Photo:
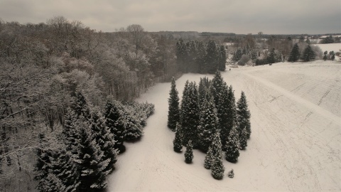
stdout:
[[[329,51],[329,50],[328,50]],[[185,74],[177,80],[182,95]],[[170,83],[139,98],[155,104],[141,142],[126,144],[108,191],[341,191],[341,62],[276,63],[222,73],[244,90],[251,111],[251,139],[236,164],[224,161],[217,181],[194,150],[193,164],[173,151],[167,126]],[[212,78],[212,75],[208,75]],[[234,178],[227,171],[234,169]]]

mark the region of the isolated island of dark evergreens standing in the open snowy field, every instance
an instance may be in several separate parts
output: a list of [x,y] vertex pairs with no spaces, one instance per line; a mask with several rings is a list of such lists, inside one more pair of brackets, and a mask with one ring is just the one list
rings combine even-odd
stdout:
[[168,127],[175,130],[174,151],[181,152],[186,146],[185,161],[190,163],[193,149],[200,149],[206,153],[205,168],[212,169],[212,176],[221,179],[223,151],[227,161],[236,162],[239,149],[247,147],[251,134],[244,92],[236,105],[232,86],[227,86],[217,71],[212,80],[201,78],[198,86],[187,81],[180,106],[173,79],[168,103]]

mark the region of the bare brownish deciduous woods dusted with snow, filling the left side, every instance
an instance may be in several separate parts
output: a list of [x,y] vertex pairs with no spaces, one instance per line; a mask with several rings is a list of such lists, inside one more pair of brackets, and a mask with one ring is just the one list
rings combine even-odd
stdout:
[[136,24],[102,33],[63,16],[0,20],[0,191],[34,188],[38,133],[60,131],[77,92],[101,112],[108,96],[134,100],[178,73],[174,45]]

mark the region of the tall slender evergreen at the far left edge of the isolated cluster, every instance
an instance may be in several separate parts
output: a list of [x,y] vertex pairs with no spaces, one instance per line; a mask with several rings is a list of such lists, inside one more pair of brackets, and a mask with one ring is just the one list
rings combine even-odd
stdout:
[[175,131],[176,124],[180,121],[179,96],[176,90],[175,78],[172,78],[171,91],[168,98],[168,127]]

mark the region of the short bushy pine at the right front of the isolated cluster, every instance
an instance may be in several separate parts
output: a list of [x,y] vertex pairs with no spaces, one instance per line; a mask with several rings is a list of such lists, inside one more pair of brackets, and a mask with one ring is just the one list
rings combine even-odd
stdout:
[[239,157],[239,132],[237,127],[233,127],[229,132],[229,138],[226,144],[225,159],[229,162],[235,163]]

